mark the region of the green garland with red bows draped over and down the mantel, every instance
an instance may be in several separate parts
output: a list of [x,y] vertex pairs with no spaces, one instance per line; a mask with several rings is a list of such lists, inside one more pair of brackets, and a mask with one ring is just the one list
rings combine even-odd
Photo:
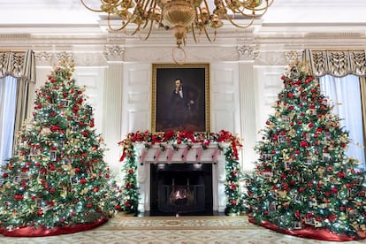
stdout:
[[[207,149],[210,143],[217,143],[217,148],[224,150],[220,143],[227,143],[225,149],[225,171],[226,171],[226,209],[228,215],[239,214],[242,210],[240,179],[242,173],[240,170],[238,149],[242,147],[240,139],[230,132],[221,130],[219,133],[197,133],[193,131],[167,131],[162,133],[151,133],[149,131],[128,133],[126,139],[118,142],[123,147],[123,153],[120,162],[123,162],[124,184],[122,192],[121,210],[126,213],[137,214],[139,204],[139,193],[137,187],[137,163],[136,152],[133,143],[145,143],[145,148],[149,149],[151,145],[161,145],[162,143],[172,143],[172,147],[179,144],[186,144],[187,149],[191,149],[193,143],[201,143],[202,149]],[[163,145],[161,145],[164,147]]]

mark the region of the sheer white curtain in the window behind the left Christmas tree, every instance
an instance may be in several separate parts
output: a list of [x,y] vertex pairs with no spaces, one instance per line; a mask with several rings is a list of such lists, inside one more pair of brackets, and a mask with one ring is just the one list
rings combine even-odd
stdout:
[[5,164],[5,160],[11,157],[17,87],[16,78],[6,76],[0,79],[0,165]]

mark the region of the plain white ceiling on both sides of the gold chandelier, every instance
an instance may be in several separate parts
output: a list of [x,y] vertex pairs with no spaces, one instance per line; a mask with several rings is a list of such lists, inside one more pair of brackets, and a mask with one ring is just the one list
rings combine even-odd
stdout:
[[[85,1],[94,6],[100,4],[100,0]],[[263,24],[366,25],[365,10],[365,0],[274,0],[270,10],[263,16]],[[19,24],[97,25],[99,15],[100,13],[84,8],[80,0],[2,0],[0,28],[4,25],[17,27],[14,25]]]

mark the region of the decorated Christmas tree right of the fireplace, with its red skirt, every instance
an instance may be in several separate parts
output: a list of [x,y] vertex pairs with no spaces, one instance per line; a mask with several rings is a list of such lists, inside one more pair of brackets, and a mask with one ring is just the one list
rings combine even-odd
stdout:
[[244,197],[251,222],[318,240],[357,240],[366,234],[366,187],[340,118],[305,65],[281,77],[274,114],[256,151]]

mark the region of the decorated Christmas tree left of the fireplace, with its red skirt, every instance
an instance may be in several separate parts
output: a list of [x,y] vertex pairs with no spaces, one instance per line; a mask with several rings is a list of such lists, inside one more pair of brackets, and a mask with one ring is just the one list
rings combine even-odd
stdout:
[[33,118],[17,139],[0,182],[0,233],[46,236],[103,224],[118,187],[103,161],[92,107],[65,58],[36,91]]

